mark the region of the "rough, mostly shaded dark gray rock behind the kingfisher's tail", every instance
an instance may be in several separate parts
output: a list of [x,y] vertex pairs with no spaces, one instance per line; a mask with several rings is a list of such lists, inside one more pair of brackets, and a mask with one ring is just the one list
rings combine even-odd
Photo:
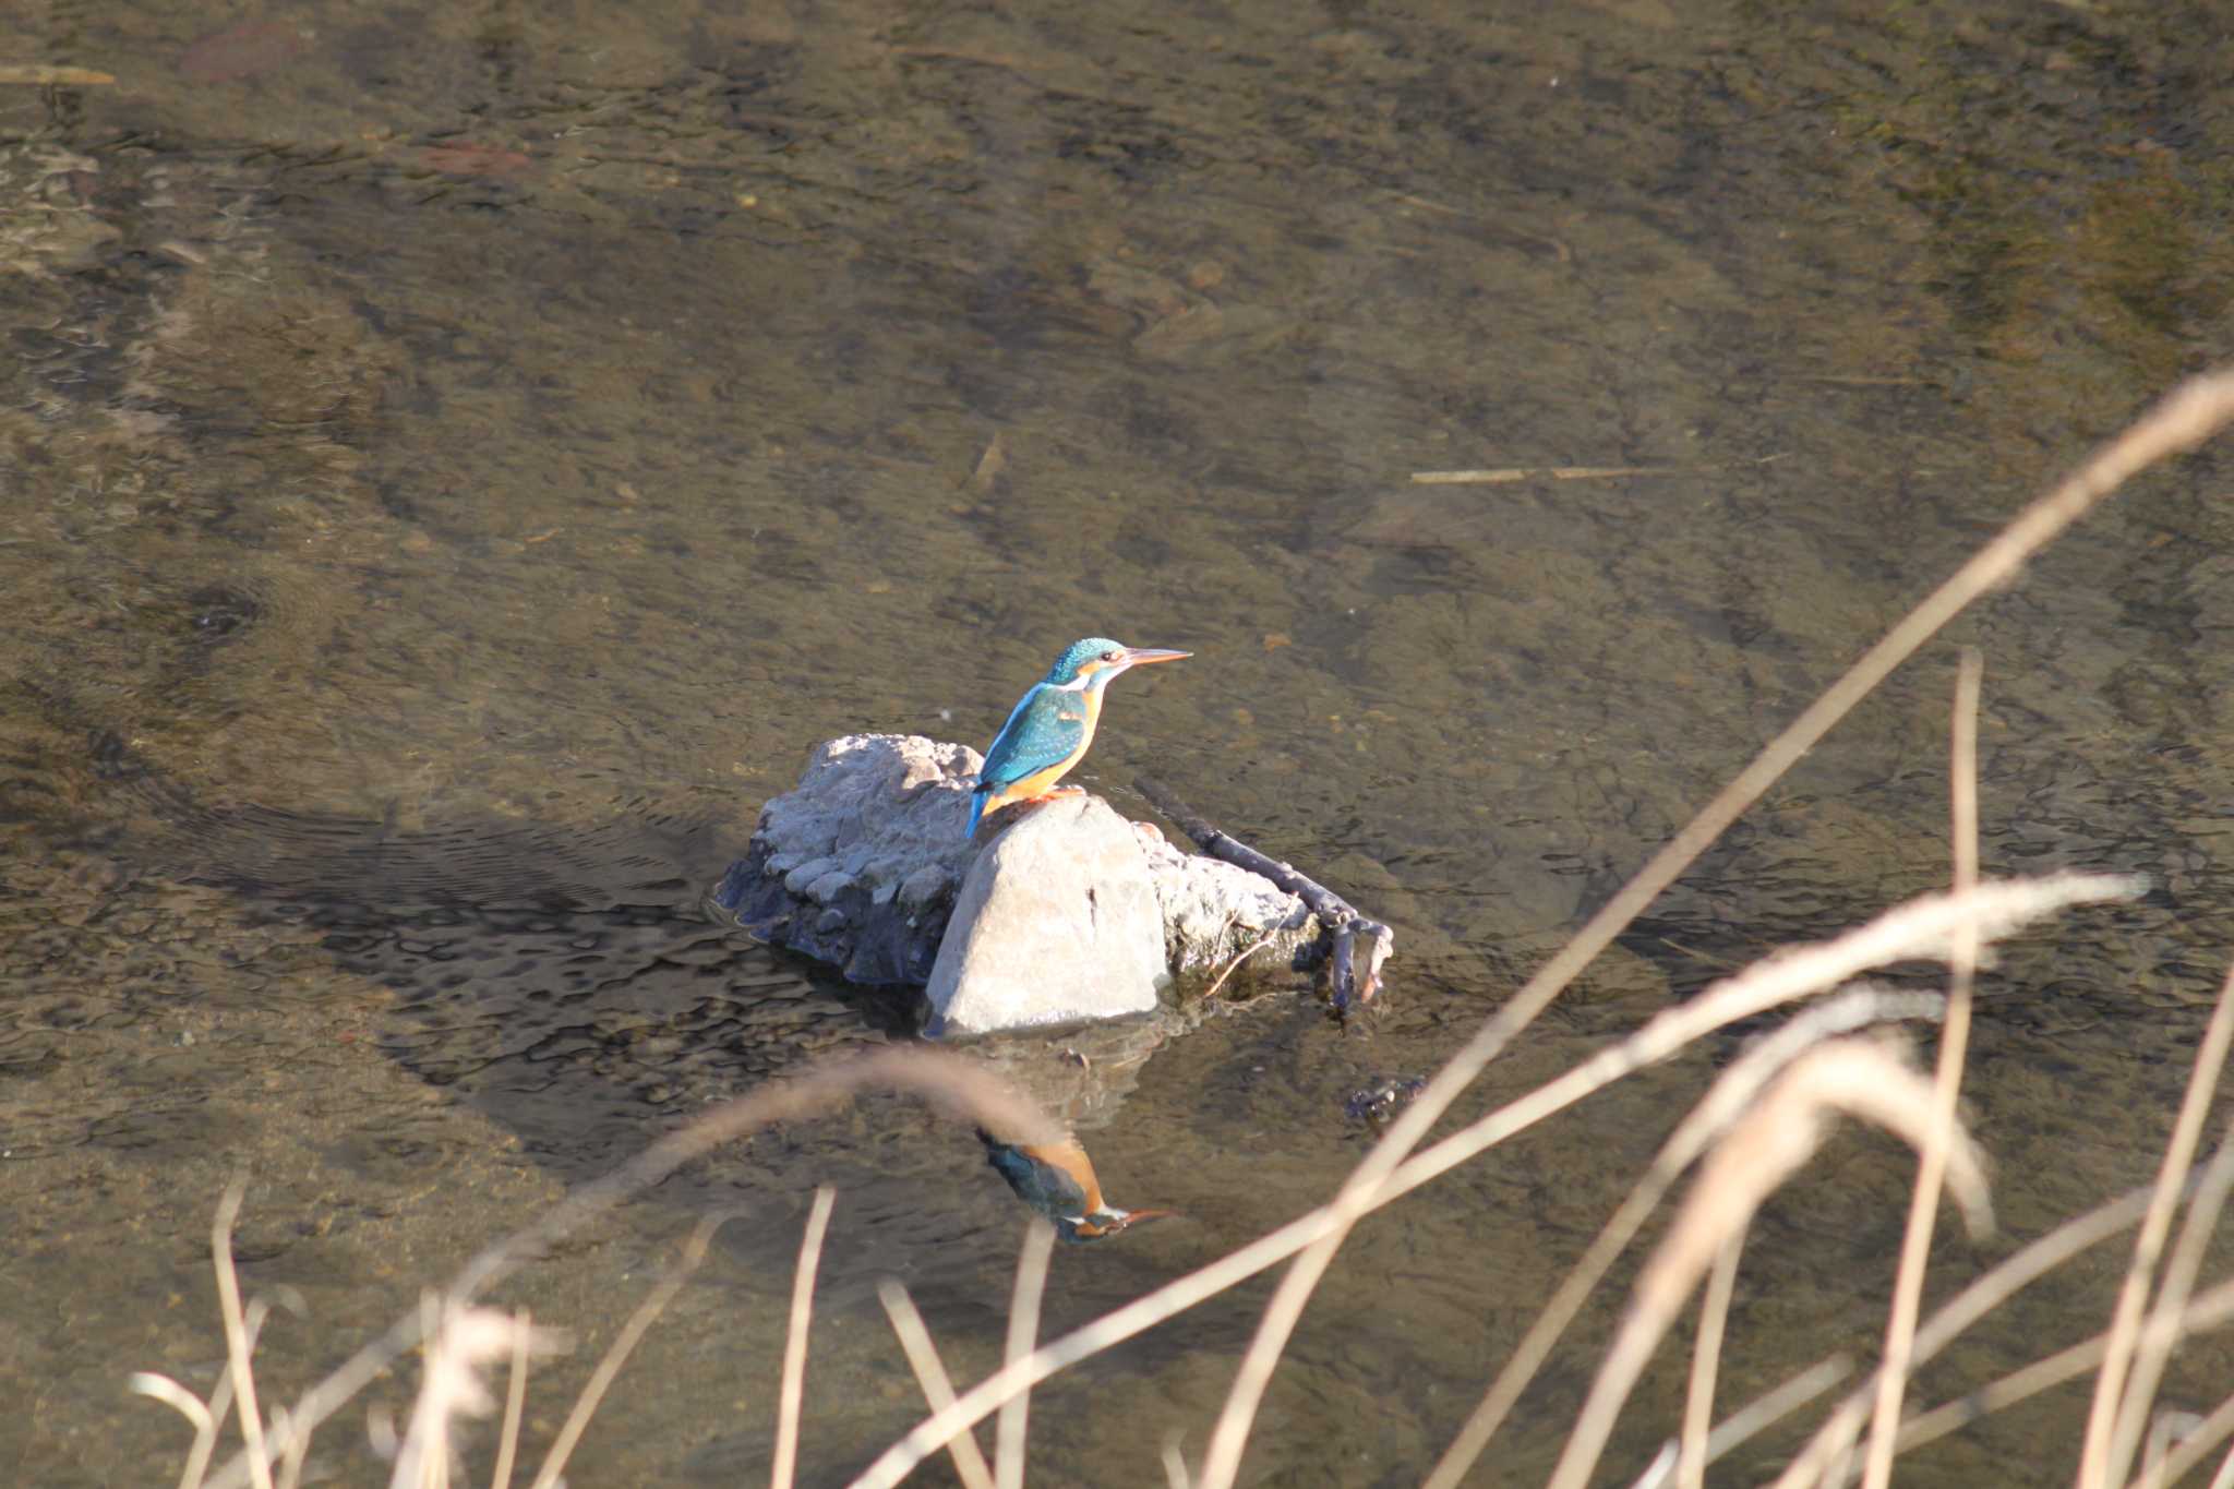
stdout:
[[981,763],[918,734],[818,746],[798,788],[760,808],[708,909],[853,982],[925,982],[976,857],[963,826]]

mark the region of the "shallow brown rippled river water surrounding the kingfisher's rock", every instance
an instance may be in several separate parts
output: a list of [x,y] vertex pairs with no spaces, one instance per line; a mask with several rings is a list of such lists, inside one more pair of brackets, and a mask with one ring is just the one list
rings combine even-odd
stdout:
[[[1146,817],[1153,770],[1401,949],[1361,1025],[1260,998],[1139,1069],[1095,1161],[1184,1219],[1057,1255],[1048,1331],[1311,1208],[1365,1150],[1347,1092],[1432,1072],[2008,513],[2225,355],[2230,47],[2207,4],[9,7],[0,67],[112,78],[0,83],[13,1482],[174,1480],[183,1424],[123,1386],[214,1380],[235,1174],[244,1286],[304,1308],[264,1339],[284,1402],[708,1101],[905,1040],[699,893],[813,743],[983,746],[1081,634],[1195,659],[1117,683],[1075,779]],[[2002,1232],[1941,1235],[1928,1301],[2142,1183],[2234,953],[2227,469],[2133,482],[1964,616],[1461,1114],[1941,884],[1975,643],[1986,873],[2154,888],[1986,976],[1966,1109]],[[1416,1482],[1736,1045],[1365,1223],[1244,1480]],[[1725,1402],[1874,1351],[1910,1168],[1845,1132],[1767,1208]],[[992,1368],[1021,1210],[967,1134],[876,1098],[509,1284],[576,1333],[529,1442],[693,1219],[742,1205],[570,1476],[766,1473],[818,1183],[802,1482],[920,1415],[880,1277],[956,1375]],[[1917,1395],[2102,1328],[2120,1266]],[[1041,1389],[1034,1482],[1200,1456],[1267,1290]],[[1617,1299],[1477,1482],[1544,1478]],[[2165,1400],[2230,1375],[2200,1342]],[[2084,1391],[1903,1482],[2069,1473]],[[362,1409],[311,1471],[384,1482]]]

